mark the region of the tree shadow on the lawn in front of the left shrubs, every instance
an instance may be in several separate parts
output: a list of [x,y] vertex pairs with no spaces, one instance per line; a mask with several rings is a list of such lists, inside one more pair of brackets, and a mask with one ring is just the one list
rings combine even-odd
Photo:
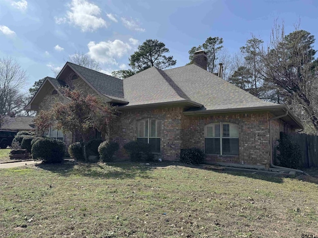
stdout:
[[38,168],[59,174],[60,176],[80,176],[104,179],[151,179],[149,172],[153,167],[131,162],[81,163],[64,160],[60,164],[38,164]]

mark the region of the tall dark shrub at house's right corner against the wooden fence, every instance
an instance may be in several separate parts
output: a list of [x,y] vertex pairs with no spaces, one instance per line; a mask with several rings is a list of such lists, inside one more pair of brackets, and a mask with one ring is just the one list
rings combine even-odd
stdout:
[[279,150],[277,155],[278,165],[291,169],[298,169],[302,159],[301,150],[298,144],[291,141],[288,134],[280,132],[279,145],[276,147]]

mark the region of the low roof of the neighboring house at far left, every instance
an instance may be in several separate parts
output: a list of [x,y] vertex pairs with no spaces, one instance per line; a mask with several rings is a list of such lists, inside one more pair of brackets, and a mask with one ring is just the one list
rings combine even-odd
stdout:
[[34,117],[4,117],[1,129],[3,130],[33,130],[29,124],[33,122]]

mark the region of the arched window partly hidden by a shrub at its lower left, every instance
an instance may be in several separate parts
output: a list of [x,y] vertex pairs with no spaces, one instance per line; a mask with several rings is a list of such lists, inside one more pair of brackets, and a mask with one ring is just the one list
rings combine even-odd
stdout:
[[153,153],[160,153],[161,122],[146,118],[137,121],[137,140],[151,144]]

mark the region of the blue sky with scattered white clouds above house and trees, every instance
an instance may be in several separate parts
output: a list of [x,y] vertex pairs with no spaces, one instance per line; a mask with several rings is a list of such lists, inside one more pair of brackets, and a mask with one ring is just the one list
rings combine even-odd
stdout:
[[275,19],[287,34],[300,21],[318,37],[317,13],[317,0],[0,0],[0,57],[14,57],[27,71],[28,89],[76,51],[110,73],[128,68],[146,39],[158,39],[183,66],[210,36],[222,37],[230,54],[251,33],[266,43]]

